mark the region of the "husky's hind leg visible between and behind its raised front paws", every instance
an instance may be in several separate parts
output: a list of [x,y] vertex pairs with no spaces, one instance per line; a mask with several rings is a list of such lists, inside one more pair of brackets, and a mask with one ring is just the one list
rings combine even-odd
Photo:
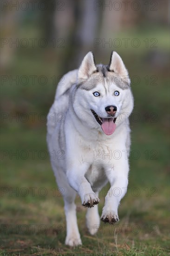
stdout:
[[[98,197],[98,193],[97,197]],[[98,214],[98,205],[87,209],[86,213],[86,226],[91,235],[96,234],[100,226],[100,216]]]

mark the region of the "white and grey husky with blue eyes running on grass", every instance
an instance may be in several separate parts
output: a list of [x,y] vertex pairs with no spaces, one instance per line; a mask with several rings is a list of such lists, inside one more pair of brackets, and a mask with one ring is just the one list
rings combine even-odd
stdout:
[[100,224],[98,194],[108,182],[111,187],[101,220],[109,224],[119,220],[118,205],[128,185],[129,115],[133,109],[130,83],[115,51],[108,65],[96,65],[89,52],[79,69],[59,81],[47,116],[47,145],[65,202],[66,245],[82,244],[74,203],[77,193],[87,208],[91,235]]

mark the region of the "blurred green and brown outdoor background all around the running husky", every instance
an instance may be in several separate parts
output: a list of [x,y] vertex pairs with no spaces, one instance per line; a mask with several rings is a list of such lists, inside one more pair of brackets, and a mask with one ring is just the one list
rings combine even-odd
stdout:
[[[169,255],[169,4],[0,2],[2,255]],[[47,153],[46,115],[61,76],[90,50],[103,64],[118,52],[129,71],[131,171],[117,232],[102,224],[91,237],[76,199],[84,245],[73,250],[63,245],[63,199]]]

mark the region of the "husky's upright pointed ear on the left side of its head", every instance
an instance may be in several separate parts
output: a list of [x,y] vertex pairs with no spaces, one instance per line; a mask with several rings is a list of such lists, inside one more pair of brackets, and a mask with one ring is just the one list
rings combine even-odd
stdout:
[[92,52],[88,52],[78,69],[78,80],[87,79],[95,71],[96,65],[94,56]]

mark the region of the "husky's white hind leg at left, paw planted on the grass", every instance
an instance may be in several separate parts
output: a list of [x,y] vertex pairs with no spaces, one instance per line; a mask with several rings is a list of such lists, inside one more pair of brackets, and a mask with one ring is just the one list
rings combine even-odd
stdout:
[[65,244],[77,246],[82,244],[78,231],[76,205],[74,203],[76,191],[70,187],[63,171],[56,173],[56,179],[60,188],[62,188],[63,198],[65,202],[66,217],[66,238]]

